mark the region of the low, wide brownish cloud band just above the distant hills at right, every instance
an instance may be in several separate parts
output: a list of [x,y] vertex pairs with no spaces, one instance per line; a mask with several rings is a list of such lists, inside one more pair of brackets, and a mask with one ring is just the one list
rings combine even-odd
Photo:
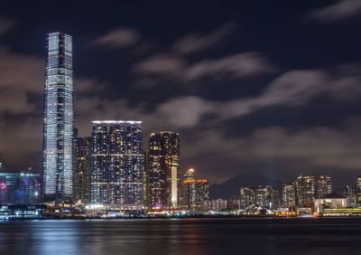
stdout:
[[[193,134],[183,132],[182,156],[187,163],[196,160],[199,175],[211,177],[213,182],[239,172],[276,175],[273,177],[283,180],[305,173],[318,174],[319,169],[324,174],[338,169],[338,173],[347,175],[361,165],[361,136],[356,130],[361,126],[354,125],[345,122],[339,129],[309,127],[298,131],[277,126],[255,128],[245,137],[215,128]],[[209,171],[215,165],[218,171]]]

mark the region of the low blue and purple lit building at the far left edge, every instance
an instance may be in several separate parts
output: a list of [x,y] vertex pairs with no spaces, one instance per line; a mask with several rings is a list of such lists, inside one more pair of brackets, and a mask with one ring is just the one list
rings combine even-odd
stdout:
[[0,173],[0,204],[42,203],[40,174]]

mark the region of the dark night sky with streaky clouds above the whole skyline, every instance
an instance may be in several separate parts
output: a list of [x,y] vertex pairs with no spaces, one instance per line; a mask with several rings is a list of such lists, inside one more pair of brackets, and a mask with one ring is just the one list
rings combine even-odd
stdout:
[[146,149],[177,131],[182,173],[212,184],[361,174],[360,0],[23,2],[0,6],[5,170],[42,172],[46,35],[64,31],[80,136],[143,120]]

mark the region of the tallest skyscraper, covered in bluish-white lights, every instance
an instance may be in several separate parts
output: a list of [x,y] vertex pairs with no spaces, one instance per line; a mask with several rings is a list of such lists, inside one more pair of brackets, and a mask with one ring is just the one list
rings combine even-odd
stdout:
[[48,34],[43,115],[43,198],[71,202],[73,194],[72,39]]

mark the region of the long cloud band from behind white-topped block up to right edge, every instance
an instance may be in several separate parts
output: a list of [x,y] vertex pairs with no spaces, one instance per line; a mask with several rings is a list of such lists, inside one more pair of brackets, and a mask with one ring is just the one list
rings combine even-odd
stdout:
[[[361,96],[358,74],[335,70],[287,71],[270,82],[259,95],[249,98],[223,101],[203,99],[196,96],[170,98],[150,108],[148,105],[130,104],[125,99],[107,100],[99,97],[85,98],[77,102],[77,111],[89,123],[93,118],[142,119],[149,129],[198,127],[206,117],[208,124],[222,123],[232,118],[241,118],[259,109],[274,106],[306,105],[310,99],[326,95],[329,99],[349,100]],[[354,81],[354,82],[353,82]],[[347,93],[339,93],[347,84]],[[115,110],[116,109],[116,110]]]

